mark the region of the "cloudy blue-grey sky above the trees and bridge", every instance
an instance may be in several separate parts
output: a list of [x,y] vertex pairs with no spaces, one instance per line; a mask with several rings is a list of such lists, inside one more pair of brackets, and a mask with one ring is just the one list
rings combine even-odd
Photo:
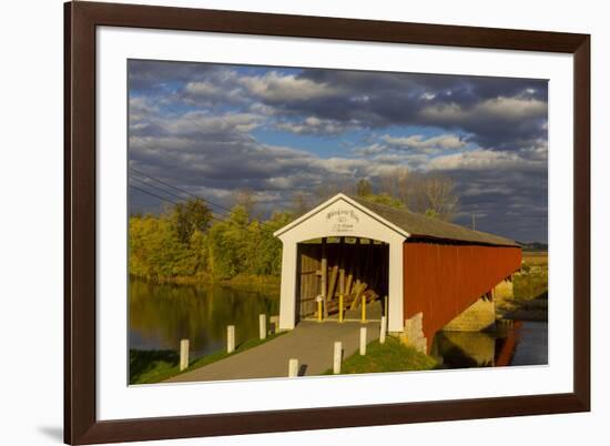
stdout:
[[265,215],[295,192],[314,204],[326,182],[376,187],[400,166],[454,180],[456,223],[474,214],[477,230],[547,242],[546,80],[145,60],[128,71],[131,212],[187,197],[141,174],[225,207],[247,189]]

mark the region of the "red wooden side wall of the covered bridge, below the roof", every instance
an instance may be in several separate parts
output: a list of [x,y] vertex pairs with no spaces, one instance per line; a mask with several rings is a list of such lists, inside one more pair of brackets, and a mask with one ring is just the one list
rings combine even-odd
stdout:
[[405,318],[424,313],[428,348],[436,332],[521,266],[521,249],[407,242]]

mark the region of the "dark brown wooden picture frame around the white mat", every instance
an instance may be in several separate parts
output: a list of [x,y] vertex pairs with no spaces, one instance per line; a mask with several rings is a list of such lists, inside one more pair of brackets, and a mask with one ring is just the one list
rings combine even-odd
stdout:
[[[101,26],[573,55],[573,392],[99,420],[95,29]],[[590,410],[590,36],[116,3],[64,4],[64,440],[92,444]]]

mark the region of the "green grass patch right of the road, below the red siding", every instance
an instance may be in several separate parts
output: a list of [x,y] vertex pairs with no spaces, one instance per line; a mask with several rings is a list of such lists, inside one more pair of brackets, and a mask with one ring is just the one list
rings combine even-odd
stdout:
[[[356,352],[344,359],[340,366],[343,374],[379,373],[379,372],[406,372],[429,371],[437,367],[437,362],[413,347],[400,343],[396,337],[386,337],[385,344],[373,341],[366,346],[366,355],[360,356]],[[323,375],[332,375],[328,369]]]

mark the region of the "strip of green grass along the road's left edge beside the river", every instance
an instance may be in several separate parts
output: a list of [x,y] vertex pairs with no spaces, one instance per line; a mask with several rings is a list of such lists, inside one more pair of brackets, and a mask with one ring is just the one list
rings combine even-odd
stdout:
[[172,376],[194,371],[195,368],[203,367],[204,365],[215,363],[216,361],[224,359],[225,357],[245,352],[248,348],[256,347],[277,336],[283,335],[284,333],[285,332],[268,335],[266,339],[263,341],[245,341],[240,344],[233,353],[217,352],[193,359],[189,363],[189,367],[182,372],[180,372],[179,367],[180,356],[177,352],[130,349],[130,384],[161,383],[162,381],[171,378]]

